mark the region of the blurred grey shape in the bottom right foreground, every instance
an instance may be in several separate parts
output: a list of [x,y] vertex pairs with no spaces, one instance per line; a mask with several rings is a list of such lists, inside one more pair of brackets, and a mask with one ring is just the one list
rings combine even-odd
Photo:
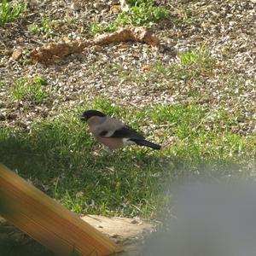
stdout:
[[183,183],[172,218],[146,242],[143,256],[253,256],[256,254],[256,185]]

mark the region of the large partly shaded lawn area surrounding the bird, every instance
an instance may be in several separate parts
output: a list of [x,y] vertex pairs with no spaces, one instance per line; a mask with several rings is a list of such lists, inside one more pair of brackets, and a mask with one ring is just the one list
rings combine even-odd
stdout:
[[[79,120],[88,108],[147,130],[163,149],[104,150]],[[74,212],[154,218],[166,203],[167,184],[198,173],[238,175],[253,159],[255,135],[232,132],[234,122],[224,109],[207,111],[196,104],[123,109],[97,100],[33,125],[29,133],[2,129],[0,155],[5,165]]]

